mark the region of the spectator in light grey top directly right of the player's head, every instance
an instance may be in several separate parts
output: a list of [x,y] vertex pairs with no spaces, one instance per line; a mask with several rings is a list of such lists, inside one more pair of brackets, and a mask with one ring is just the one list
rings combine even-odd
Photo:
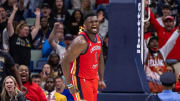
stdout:
[[106,19],[105,11],[99,9],[97,11],[98,21],[99,21],[99,34],[105,38],[108,33],[108,20]]

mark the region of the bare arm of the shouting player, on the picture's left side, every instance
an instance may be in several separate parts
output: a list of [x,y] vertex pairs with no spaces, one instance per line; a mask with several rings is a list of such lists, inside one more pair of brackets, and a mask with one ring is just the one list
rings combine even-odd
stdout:
[[[73,62],[81,53],[83,53],[87,48],[87,42],[83,36],[78,36],[75,38],[67,49],[65,56],[62,60],[62,70],[65,76],[67,84],[71,84],[70,79],[70,63]],[[69,89],[70,92],[76,93],[75,89]]]

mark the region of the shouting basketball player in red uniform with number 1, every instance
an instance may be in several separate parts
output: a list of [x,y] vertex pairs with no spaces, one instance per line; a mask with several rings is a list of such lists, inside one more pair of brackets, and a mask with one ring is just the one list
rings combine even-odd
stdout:
[[98,84],[101,89],[106,88],[97,16],[87,15],[83,27],[83,32],[79,33],[65,53],[62,69],[75,101],[97,101]]

